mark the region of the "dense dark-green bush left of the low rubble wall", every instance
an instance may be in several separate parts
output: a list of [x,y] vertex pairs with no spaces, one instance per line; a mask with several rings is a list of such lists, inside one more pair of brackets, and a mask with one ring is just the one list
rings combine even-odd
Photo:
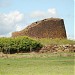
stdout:
[[38,51],[42,45],[32,38],[0,38],[0,50],[4,53]]

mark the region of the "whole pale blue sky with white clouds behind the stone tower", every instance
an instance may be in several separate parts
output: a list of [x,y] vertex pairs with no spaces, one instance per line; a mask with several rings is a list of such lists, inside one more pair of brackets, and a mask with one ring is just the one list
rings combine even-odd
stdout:
[[0,37],[11,36],[44,18],[63,18],[67,36],[74,39],[75,0],[0,0]]

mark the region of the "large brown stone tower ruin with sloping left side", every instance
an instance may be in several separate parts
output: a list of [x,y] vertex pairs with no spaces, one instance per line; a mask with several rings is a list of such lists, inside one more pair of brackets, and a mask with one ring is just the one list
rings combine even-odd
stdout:
[[29,36],[36,38],[66,38],[64,20],[48,18],[37,21],[19,32],[12,33],[12,37]]

